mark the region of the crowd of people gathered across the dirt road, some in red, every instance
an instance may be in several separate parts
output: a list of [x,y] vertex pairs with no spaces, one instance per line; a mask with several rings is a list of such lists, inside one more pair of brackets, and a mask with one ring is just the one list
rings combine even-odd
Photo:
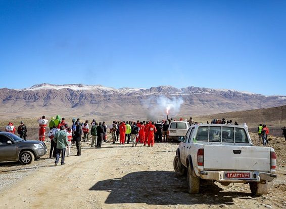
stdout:
[[[61,155],[61,164],[65,164],[65,156],[70,156],[71,145],[75,144],[77,148],[76,156],[81,155],[81,142],[88,142],[91,136],[91,145],[100,149],[102,142],[107,142],[107,134],[110,133],[112,137],[112,142],[115,144],[119,141],[119,145],[124,145],[125,143],[129,144],[132,142],[132,147],[136,147],[138,143],[143,144],[143,146],[148,145],[153,147],[157,142],[167,142],[167,132],[169,123],[173,118],[169,118],[167,115],[167,120],[158,120],[158,121],[113,121],[113,123],[108,127],[103,122],[97,122],[95,119],[92,120],[90,126],[89,121],[85,120],[81,122],[80,118],[72,119],[71,126],[65,121],[65,118],[61,118],[60,115],[56,117],[51,117],[51,120],[47,120],[43,115],[38,119],[39,123],[39,141],[45,141],[45,129],[49,125],[50,131],[47,134],[47,137],[51,139],[51,149],[50,149],[50,158],[56,158],[55,166],[59,162]],[[180,118],[179,120],[182,120]],[[186,120],[186,119],[185,119]],[[197,124],[192,117],[189,120],[190,126]],[[49,122],[49,124],[48,124]],[[207,121],[209,123],[209,121]],[[225,120],[225,118],[213,119],[211,124],[232,124],[232,120]],[[236,121],[234,125],[239,125]],[[243,126],[248,129],[246,123],[243,123]],[[286,128],[282,128],[282,135],[286,140]],[[6,127],[7,132],[15,134],[16,128],[12,122]],[[23,139],[27,137],[27,127],[24,121],[20,122],[20,125],[17,129],[17,133]],[[265,124],[259,124],[257,129],[259,136],[259,143],[265,146],[268,144],[267,136],[269,135],[269,129]]]

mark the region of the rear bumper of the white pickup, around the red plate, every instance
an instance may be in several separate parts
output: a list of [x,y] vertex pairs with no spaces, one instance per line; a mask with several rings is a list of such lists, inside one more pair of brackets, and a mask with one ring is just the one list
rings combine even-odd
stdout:
[[225,174],[229,171],[200,171],[200,177],[202,179],[215,180],[218,182],[260,182],[268,181],[271,182],[277,177],[275,174],[258,172],[258,171],[236,171],[237,173],[250,172],[250,178],[226,178]]

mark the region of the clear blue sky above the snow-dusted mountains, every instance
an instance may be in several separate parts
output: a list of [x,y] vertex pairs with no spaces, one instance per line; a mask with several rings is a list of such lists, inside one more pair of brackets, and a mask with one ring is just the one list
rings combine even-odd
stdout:
[[286,95],[286,1],[0,0],[0,88],[169,85]]

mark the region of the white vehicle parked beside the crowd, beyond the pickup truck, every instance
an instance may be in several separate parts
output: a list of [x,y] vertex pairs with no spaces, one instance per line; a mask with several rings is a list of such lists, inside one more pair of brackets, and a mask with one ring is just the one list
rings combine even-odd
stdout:
[[168,128],[168,141],[180,141],[190,127],[187,121],[171,121]]

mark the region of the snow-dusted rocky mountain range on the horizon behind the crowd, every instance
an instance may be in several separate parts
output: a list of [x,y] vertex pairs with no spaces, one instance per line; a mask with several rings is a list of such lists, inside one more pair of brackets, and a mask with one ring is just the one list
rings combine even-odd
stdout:
[[235,90],[170,86],[114,89],[88,85],[43,83],[28,89],[0,89],[0,118],[38,117],[57,113],[66,117],[102,119],[158,118],[206,115],[286,105],[286,96],[264,96]]

